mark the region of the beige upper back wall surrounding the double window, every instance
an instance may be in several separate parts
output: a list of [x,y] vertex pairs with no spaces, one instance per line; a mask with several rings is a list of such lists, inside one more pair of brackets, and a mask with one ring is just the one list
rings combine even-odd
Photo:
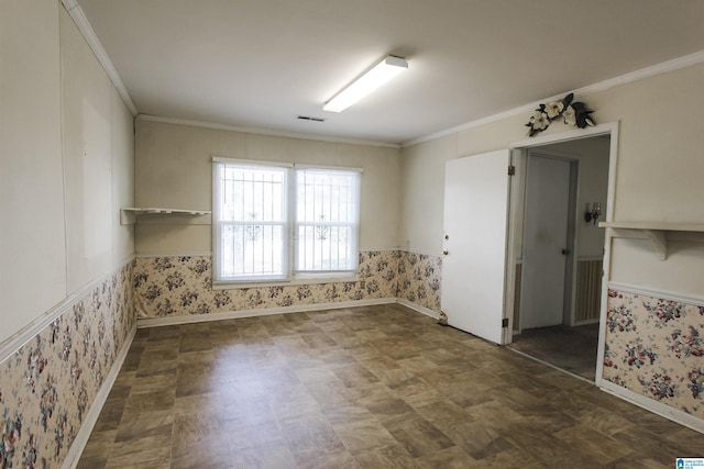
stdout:
[[[211,210],[213,155],[363,168],[361,249],[397,246],[399,150],[136,121],[136,204]],[[211,252],[210,216],[141,216],[138,255]]]

